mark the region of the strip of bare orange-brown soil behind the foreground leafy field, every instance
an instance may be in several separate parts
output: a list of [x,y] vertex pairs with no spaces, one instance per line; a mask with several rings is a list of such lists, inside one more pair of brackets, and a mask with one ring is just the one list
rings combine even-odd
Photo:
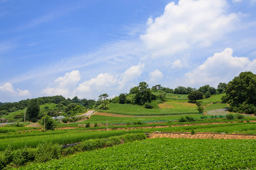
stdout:
[[152,133],[148,138],[189,138],[189,139],[256,139],[256,135],[216,133]]

